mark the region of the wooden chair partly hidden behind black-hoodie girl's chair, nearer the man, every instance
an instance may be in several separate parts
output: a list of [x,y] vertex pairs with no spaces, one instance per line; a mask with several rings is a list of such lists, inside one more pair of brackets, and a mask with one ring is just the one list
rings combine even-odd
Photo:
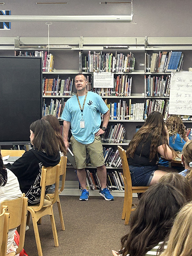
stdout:
[[[66,167],[67,167],[67,156],[61,156],[60,160],[60,176],[62,176],[62,183],[61,183],[61,188],[58,191],[58,197],[57,197],[57,206],[59,210],[59,217],[60,217],[60,222],[61,222],[61,229],[65,230],[65,225],[63,221],[63,214],[61,211],[61,204],[60,204],[60,198],[59,195],[63,191],[64,185],[65,185],[65,176],[66,176]],[[51,200],[54,198],[54,194],[47,194]]]

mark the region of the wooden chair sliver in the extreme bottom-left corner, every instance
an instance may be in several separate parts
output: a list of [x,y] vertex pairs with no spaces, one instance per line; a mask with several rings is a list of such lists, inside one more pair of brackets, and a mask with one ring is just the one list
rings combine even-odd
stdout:
[[0,214],[0,255],[5,256],[7,252],[7,239],[9,231],[8,207],[4,207]]

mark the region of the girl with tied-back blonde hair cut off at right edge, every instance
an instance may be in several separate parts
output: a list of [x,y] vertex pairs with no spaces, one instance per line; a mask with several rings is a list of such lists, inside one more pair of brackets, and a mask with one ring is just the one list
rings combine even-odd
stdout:
[[185,166],[185,170],[180,172],[182,176],[186,177],[190,183],[192,183],[192,140],[188,141],[182,150],[181,155],[182,164]]

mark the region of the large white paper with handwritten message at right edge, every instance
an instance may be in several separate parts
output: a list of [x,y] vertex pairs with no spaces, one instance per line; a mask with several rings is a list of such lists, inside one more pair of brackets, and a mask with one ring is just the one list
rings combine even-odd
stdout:
[[171,74],[169,114],[192,115],[192,72]]

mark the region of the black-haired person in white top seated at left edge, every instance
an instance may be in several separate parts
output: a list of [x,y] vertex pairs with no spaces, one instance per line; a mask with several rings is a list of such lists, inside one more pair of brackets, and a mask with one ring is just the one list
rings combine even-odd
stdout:
[[[17,177],[4,167],[0,154],[0,203],[4,200],[17,199],[22,195]],[[15,209],[17,211],[17,209]],[[16,228],[10,229],[7,241],[7,253],[16,252],[17,247],[13,244]]]

